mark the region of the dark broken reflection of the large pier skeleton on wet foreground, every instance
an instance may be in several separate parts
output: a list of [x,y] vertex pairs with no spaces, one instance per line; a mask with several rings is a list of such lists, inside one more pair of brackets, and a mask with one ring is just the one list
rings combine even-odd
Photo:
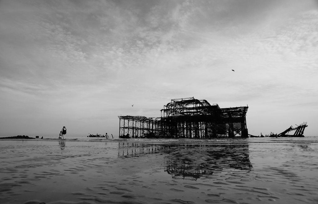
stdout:
[[248,144],[119,143],[118,157],[166,153],[164,171],[173,179],[197,180],[226,170],[250,171]]

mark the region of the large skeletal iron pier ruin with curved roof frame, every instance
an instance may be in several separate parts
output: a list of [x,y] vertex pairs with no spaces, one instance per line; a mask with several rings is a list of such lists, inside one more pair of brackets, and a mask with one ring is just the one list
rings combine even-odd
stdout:
[[120,138],[248,137],[248,106],[220,108],[193,97],[171,99],[159,118],[118,116]]

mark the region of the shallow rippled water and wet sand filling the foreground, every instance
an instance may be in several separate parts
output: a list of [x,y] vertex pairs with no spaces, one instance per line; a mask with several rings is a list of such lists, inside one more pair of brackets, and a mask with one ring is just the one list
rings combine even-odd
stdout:
[[318,203],[318,137],[0,140],[0,203]]

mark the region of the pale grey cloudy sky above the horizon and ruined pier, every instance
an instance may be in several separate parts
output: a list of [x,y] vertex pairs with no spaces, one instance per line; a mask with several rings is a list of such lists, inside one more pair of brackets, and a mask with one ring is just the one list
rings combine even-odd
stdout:
[[314,136],[317,79],[318,1],[0,1],[0,135],[118,136],[194,97]]

